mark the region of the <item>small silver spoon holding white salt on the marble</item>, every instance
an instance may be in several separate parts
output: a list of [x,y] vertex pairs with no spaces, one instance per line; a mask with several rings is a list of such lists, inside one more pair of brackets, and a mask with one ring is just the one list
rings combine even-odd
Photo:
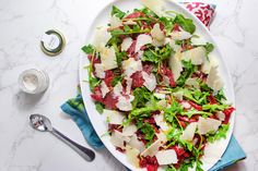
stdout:
[[32,126],[35,130],[42,131],[42,132],[50,132],[55,136],[57,136],[59,139],[64,142],[67,145],[69,145],[71,148],[73,148],[81,157],[83,157],[87,161],[92,161],[95,158],[95,152],[89,148],[85,148],[75,142],[71,141],[63,134],[61,134],[59,131],[54,129],[51,126],[51,122],[48,118],[42,114],[32,114],[30,117]]

